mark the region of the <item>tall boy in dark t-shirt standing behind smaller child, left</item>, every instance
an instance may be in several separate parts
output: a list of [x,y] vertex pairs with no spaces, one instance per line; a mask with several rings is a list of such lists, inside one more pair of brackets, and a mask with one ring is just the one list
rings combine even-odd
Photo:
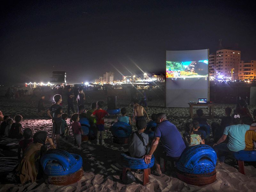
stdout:
[[[62,121],[62,118],[61,116],[58,118],[57,115],[56,115],[56,111],[59,109],[59,108],[62,108],[60,106],[60,103],[62,101],[62,98],[61,98],[61,95],[59,94],[56,94],[53,96],[53,100],[55,101],[55,104],[53,104],[47,111],[47,115],[52,119],[52,126],[53,126],[53,130],[52,130],[52,142],[54,142],[54,137],[56,135],[56,147],[58,148],[59,147],[59,139],[60,139],[60,129],[61,127],[59,127],[59,125],[57,124],[58,127],[56,127],[56,123],[59,123],[59,120],[60,122]],[[52,112],[52,115],[51,113]],[[56,121],[56,123],[54,123]],[[61,123],[60,123],[61,124]]]

